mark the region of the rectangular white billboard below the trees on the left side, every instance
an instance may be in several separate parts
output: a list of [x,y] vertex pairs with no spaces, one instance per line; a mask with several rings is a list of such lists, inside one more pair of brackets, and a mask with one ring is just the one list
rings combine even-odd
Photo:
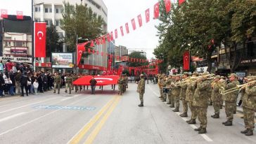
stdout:
[[51,53],[51,65],[53,68],[72,68],[72,53]]

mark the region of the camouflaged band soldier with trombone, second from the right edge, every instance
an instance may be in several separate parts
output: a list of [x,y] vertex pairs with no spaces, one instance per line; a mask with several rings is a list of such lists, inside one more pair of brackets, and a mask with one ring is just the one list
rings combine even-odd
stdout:
[[[237,80],[237,75],[231,73],[230,82],[225,85],[225,90],[232,89],[239,85]],[[238,96],[238,90],[234,92],[229,92],[228,94],[223,95],[223,100],[225,101],[225,113],[226,113],[226,122],[222,122],[225,126],[231,126],[233,122],[233,111],[236,109],[236,101]]]

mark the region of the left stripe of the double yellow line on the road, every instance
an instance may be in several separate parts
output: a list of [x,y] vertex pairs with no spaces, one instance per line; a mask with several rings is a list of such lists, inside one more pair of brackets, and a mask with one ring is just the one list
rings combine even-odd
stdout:
[[89,131],[89,129],[91,129],[91,127],[98,121],[98,119],[101,117],[101,115],[103,115],[103,113],[105,112],[105,110],[107,110],[112,104],[113,102],[117,99],[117,96],[113,97],[113,99],[111,99],[110,101],[108,101],[107,104],[105,104],[105,106],[103,108],[101,108],[101,110],[89,121],[89,123],[87,123],[80,131],[78,134],[76,134],[69,143],[71,144],[76,144],[79,143],[79,141],[81,141],[81,139],[84,137],[85,134],[87,134],[87,132]]

